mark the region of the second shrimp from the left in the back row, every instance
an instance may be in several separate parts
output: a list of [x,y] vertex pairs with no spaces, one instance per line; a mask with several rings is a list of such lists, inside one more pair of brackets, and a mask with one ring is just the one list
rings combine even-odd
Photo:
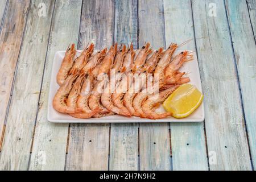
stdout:
[[81,71],[81,69],[86,65],[88,58],[92,56],[94,49],[94,44],[90,44],[89,47],[85,48],[79,57],[75,60],[75,63],[73,64],[73,67],[71,68],[71,71],[69,74],[75,75],[78,72]]

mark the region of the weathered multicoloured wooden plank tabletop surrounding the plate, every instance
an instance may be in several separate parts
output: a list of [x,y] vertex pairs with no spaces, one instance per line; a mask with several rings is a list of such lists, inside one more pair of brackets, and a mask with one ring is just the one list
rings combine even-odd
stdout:
[[[256,1],[0,1],[0,169],[253,170]],[[47,121],[53,56],[69,43],[197,52],[202,123]]]

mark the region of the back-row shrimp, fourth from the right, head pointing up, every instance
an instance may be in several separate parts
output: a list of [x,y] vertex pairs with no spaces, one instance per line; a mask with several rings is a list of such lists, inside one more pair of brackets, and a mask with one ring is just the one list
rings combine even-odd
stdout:
[[139,53],[134,60],[133,73],[137,73],[141,69],[142,65],[145,63],[147,56],[152,53],[150,48],[150,43],[146,43],[142,49],[139,49]]

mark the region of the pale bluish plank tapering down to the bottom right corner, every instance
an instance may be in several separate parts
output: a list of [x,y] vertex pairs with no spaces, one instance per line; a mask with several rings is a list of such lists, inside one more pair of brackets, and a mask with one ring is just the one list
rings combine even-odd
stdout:
[[256,166],[256,44],[246,1],[225,1],[240,80],[251,158]]

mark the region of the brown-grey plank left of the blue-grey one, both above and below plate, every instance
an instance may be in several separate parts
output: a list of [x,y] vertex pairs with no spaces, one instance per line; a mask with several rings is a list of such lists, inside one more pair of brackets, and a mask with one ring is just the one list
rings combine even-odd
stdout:
[[[86,0],[82,6],[79,47],[95,42],[110,47],[114,34],[114,1]],[[67,170],[108,170],[109,124],[72,124]]]

